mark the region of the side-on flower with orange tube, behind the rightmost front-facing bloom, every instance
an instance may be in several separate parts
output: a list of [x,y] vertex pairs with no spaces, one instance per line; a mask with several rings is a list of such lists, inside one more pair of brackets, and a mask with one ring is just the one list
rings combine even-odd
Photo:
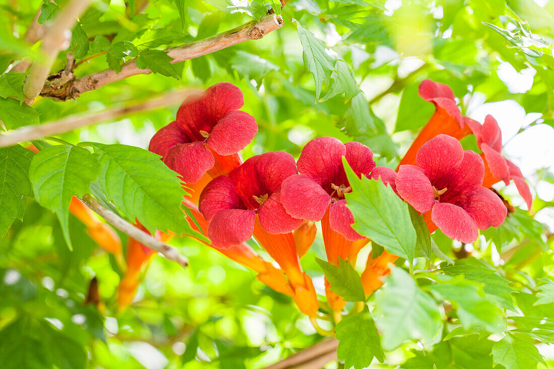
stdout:
[[404,164],[414,164],[419,148],[433,137],[444,134],[461,140],[471,134],[470,127],[465,124],[464,117],[456,106],[454,93],[449,86],[425,79],[419,84],[418,93],[423,100],[433,102],[435,112],[419,131],[398,167]]

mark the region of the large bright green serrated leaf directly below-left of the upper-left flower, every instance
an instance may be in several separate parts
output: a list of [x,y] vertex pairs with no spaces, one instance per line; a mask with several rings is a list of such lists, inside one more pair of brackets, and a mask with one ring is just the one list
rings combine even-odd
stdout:
[[131,221],[156,229],[195,234],[181,210],[186,194],[177,173],[160,156],[139,147],[90,143],[100,155],[99,182],[107,199]]

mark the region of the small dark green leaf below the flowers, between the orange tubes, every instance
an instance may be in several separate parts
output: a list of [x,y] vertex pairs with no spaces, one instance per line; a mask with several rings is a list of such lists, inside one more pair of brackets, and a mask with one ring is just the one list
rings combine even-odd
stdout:
[[331,284],[331,290],[335,294],[342,296],[345,301],[366,301],[360,275],[352,268],[350,263],[345,262],[342,258],[338,258],[339,266],[327,263],[319,258],[316,258],[315,261],[323,269],[327,280]]

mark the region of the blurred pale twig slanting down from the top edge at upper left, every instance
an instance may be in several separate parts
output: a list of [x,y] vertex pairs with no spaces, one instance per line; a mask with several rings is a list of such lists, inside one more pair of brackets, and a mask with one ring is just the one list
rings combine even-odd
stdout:
[[88,8],[90,0],[70,0],[61,9],[58,16],[45,27],[40,49],[44,57],[31,66],[27,81],[23,86],[24,101],[32,104],[42,91],[50,69],[60,50],[68,47],[68,33],[77,22],[77,18]]

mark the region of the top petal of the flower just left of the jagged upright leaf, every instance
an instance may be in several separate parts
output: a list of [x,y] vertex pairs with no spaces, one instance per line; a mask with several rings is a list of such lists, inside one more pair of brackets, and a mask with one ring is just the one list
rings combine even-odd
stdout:
[[340,186],[346,182],[342,166],[342,157],[346,155],[346,146],[334,137],[318,137],[306,143],[296,163],[301,174],[310,176],[322,187],[331,186],[334,178],[343,178]]

